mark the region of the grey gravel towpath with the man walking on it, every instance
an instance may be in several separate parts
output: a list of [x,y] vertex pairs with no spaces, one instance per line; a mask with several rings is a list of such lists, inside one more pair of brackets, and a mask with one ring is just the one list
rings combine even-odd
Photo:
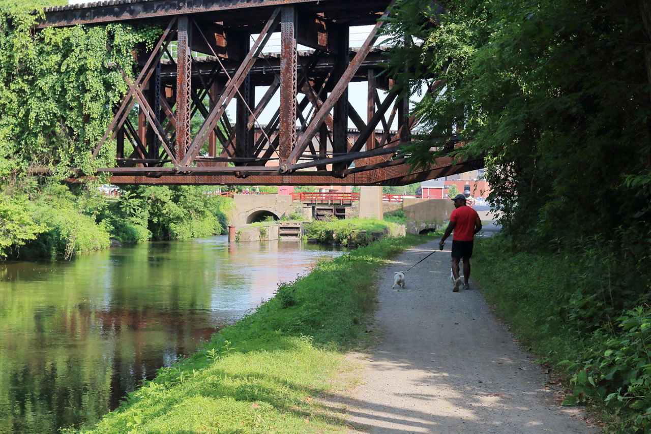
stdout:
[[[452,292],[450,251],[436,252],[392,290],[438,239],[404,252],[380,271],[375,329],[361,385],[324,400],[365,433],[598,433],[495,319],[475,284]],[[451,243],[446,243],[449,249]]]

